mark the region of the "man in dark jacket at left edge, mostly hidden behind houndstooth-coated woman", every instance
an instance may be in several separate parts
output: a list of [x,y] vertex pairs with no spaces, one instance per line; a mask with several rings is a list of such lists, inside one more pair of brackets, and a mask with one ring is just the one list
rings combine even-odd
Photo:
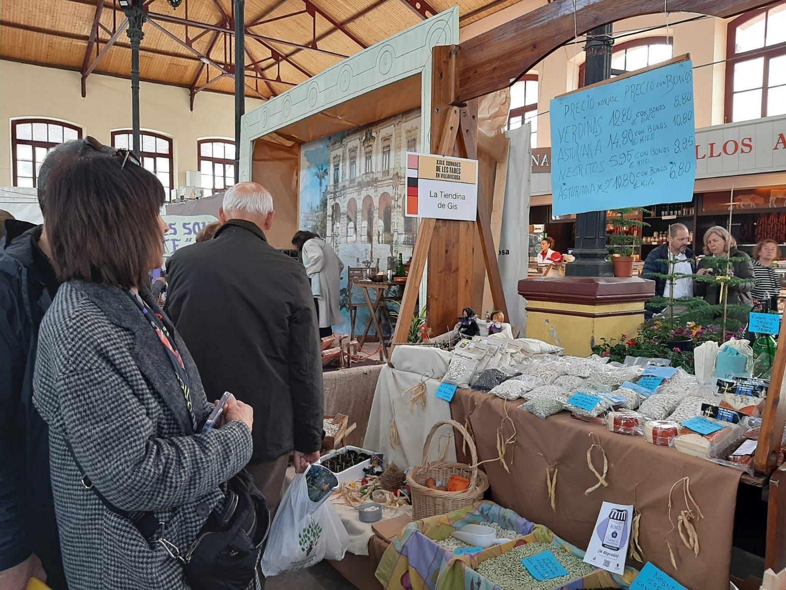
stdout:
[[[41,209],[47,180],[78,158],[108,157],[86,142],[57,146],[38,179]],[[0,241],[0,588],[24,590],[31,577],[66,588],[50,482],[49,430],[33,406],[39,326],[59,282],[43,226],[7,219]]]

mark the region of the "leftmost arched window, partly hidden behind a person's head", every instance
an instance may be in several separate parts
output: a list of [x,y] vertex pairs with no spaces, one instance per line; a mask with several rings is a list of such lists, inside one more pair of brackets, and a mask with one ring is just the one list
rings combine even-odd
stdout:
[[39,170],[54,146],[81,139],[82,129],[52,119],[14,119],[11,121],[11,160],[13,186],[38,186]]

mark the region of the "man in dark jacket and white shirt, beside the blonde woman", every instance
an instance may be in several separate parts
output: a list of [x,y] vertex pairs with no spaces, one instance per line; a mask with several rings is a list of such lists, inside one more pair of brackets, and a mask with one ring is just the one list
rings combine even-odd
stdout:
[[[696,274],[696,255],[688,245],[690,244],[690,234],[688,228],[682,223],[672,223],[669,226],[668,241],[659,245],[648,254],[644,262],[644,271],[641,272],[642,278],[649,278],[655,281],[655,296],[669,297],[672,286],[667,284],[666,279],[652,276],[652,273],[660,275],[695,275]],[[672,261],[672,264],[668,262]],[[678,278],[674,281],[674,298],[692,297],[693,279]]]

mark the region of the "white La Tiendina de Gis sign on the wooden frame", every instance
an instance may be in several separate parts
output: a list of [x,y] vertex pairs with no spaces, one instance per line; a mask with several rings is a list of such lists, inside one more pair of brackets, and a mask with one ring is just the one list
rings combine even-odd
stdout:
[[477,212],[478,160],[407,152],[407,217],[475,221]]

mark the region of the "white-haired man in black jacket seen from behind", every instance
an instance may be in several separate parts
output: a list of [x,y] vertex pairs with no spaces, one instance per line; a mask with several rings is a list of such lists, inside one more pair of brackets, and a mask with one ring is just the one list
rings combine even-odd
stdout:
[[230,391],[254,408],[248,470],[271,510],[289,453],[299,473],[319,459],[324,418],[314,297],[303,265],[267,243],[273,217],[263,186],[227,190],[215,238],[169,259],[165,308],[208,400]]

